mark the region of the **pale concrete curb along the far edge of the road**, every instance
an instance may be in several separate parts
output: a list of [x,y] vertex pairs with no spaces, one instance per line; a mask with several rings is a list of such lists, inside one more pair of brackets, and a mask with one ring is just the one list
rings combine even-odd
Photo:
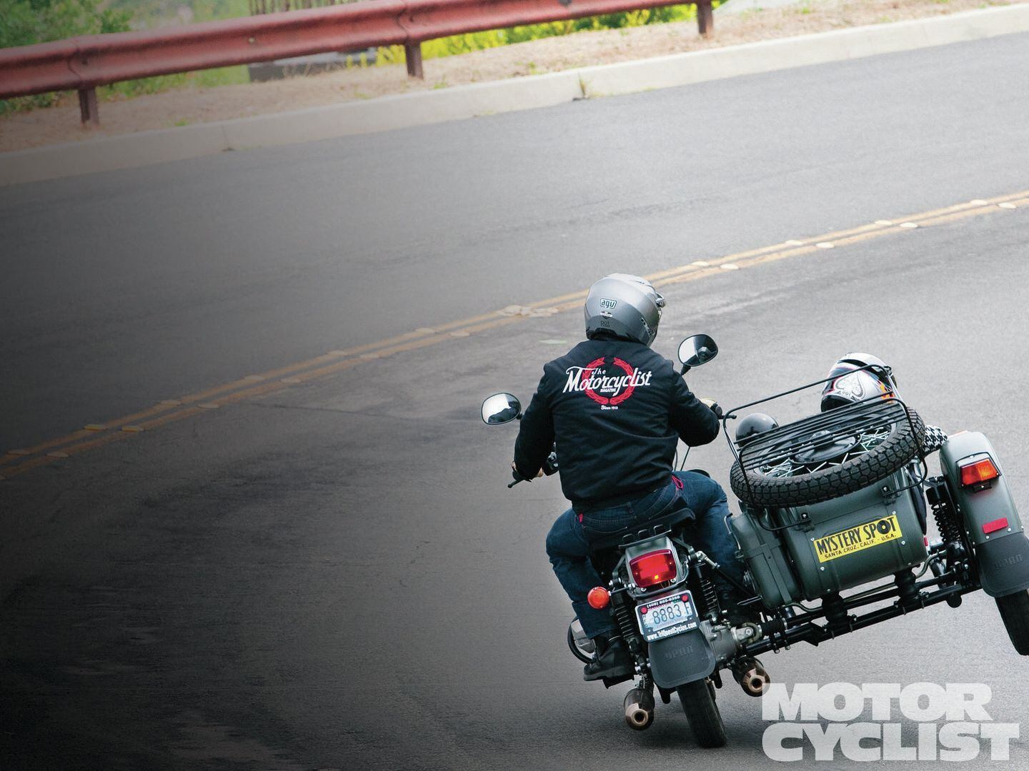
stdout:
[[0,185],[130,169],[1029,32],[1029,3],[0,153]]

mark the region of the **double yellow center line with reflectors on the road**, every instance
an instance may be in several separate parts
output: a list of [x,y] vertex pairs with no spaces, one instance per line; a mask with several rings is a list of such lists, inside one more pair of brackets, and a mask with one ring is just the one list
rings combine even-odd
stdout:
[[[998,210],[1018,209],[1026,205],[1029,205],[1029,190],[994,198],[977,198],[907,217],[877,220],[858,227],[838,230],[815,237],[787,241],[711,260],[695,260],[689,264],[651,273],[646,278],[653,282],[657,287],[697,281],[716,273],[738,270],[765,262],[828,252],[871,238],[910,232],[920,227],[954,222],[967,217],[994,213]],[[631,266],[627,269],[631,269]],[[65,436],[49,439],[31,447],[7,450],[3,455],[0,455],[0,480],[9,479],[55,460],[71,457],[176,420],[200,415],[246,399],[282,391],[290,386],[326,377],[367,361],[467,337],[530,319],[576,309],[581,307],[586,294],[586,290],[582,290],[538,300],[528,305],[508,305],[505,308],[469,319],[449,322],[435,327],[421,327],[377,342],[329,351],[313,359],[294,362],[268,372],[247,375],[196,394],[187,394],[177,399],[167,399],[132,414],[103,423],[87,424],[78,431]]]

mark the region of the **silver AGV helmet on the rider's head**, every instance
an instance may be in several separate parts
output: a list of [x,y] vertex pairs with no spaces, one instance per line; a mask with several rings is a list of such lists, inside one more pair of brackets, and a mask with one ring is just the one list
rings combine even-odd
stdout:
[[628,273],[605,276],[586,296],[586,334],[610,332],[649,345],[658,336],[665,298],[646,279]]

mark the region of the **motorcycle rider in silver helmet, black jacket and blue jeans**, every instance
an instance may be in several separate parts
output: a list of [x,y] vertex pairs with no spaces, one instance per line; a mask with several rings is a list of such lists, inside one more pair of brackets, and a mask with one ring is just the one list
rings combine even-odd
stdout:
[[[637,276],[612,273],[594,284],[586,298],[588,339],[543,366],[514,445],[512,468],[532,479],[557,442],[561,488],[572,508],[551,528],[546,553],[596,645],[586,680],[633,672],[610,611],[587,601],[590,589],[603,584],[589,558],[591,541],[688,508],[696,520],[687,537],[743,579],[725,523],[725,492],[703,474],[672,470],[679,439],[712,441],[721,410],[698,400],[672,362],[650,350],[664,306]],[[732,584],[721,576],[714,581],[724,607],[735,607]]]

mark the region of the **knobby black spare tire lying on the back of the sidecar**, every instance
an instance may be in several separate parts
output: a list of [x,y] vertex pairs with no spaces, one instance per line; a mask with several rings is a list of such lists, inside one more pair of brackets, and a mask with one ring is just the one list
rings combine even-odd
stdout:
[[901,419],[893,424],[889,436],[881,443],[839,466],[790,476],[768,476],[751,470],[744,478],[744,471],[736,462],[729,476],[733,492],[750,506],[777,509],[820,504],[867,487],[899,471],[918,455],[925,425],[915,410],[908,411],[911,421]]

